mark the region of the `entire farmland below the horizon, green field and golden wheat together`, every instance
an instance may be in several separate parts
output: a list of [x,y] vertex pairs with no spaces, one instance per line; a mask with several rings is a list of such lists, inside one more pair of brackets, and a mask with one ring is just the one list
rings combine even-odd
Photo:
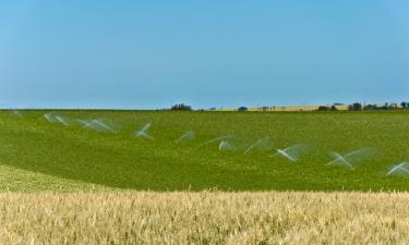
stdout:
[[408,241],[405,111],[3,110],[0,135],[0,244]]

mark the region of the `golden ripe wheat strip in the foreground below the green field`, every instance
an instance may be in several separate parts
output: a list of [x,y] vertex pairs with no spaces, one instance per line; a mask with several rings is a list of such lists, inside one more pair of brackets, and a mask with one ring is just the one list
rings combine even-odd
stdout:
[[407,193],[0,194],[0,244],[408,244]]

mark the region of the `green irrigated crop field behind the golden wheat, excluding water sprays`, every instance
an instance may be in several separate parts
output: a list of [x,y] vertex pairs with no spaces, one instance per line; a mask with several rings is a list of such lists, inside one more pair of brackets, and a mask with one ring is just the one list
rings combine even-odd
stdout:
[[[408,179],[385,177],[389,164],[409,159],[409,113],[405,112],[61,113],[73,119],[112,120],[123,126],[119,134],[49,123],[43,113],[26,111],[20,119],[0,112],[0,164],[32,173],[27,184],[16,185],[14,191],[59,189],[67,182],[72,183],[68,189],[93,184],[154,191],[409,189]],[[146,122],[152,122],[156,139],[132,137]],[[197,139],[176,145],[175,139],[188,130],[195,131]],[[217,145],[199,146],[225,134],[237,134],[246,144],[269,137],[279,148],[305,143],[311,151],[293,164],[269,158],[267,152],[243,156],[242,151],[220,152]],[[325,166],[330,160],[328,152],[361,147],[371,147],[375,155],[356,171]],[[5,180],[12,182],[13,177],[17,176]],[[36,182],[41,185],[29,187]],[[4,186],[0,184],[0,188]]]

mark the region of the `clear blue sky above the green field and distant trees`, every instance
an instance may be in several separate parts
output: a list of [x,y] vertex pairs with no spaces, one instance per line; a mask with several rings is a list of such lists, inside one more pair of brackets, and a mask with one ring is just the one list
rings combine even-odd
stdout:
[[407,0],[0,1],[0,108],[409,101]]

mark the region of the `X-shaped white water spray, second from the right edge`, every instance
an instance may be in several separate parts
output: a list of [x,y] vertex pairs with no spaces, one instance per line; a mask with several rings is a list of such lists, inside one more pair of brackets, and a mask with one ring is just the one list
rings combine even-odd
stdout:
[[328,162],[327,166],[342,166],[351,170],[354,170],[354,166],[360,161],[365,160],[369,157],[369,154],[370,151],[368,148],[361,148],[345,155],[332,152],[330,156],[334,158],[334,160]]

